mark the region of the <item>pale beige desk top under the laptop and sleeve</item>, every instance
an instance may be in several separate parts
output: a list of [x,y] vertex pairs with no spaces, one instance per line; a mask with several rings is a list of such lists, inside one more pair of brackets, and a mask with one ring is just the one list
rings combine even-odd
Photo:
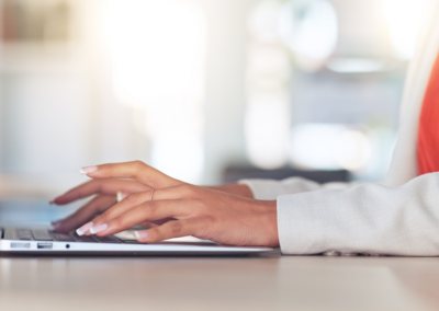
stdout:
[[1,310],[439,310],[439,258],[0,257]]

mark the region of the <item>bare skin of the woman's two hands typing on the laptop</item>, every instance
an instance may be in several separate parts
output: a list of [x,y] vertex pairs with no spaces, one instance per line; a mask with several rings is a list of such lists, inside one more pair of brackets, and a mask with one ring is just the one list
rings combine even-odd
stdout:
[[[95,195],[70,217],[54,222],[56,231],[91,220],[93,228],[104,228],[99,237],[136,224],[153,227],[138,231],[137,240],[144,243],[193,235],[229,245],[279,246],[277,201],[254,199],[245,185],[194,186],[140,161],[92,168],[95,171],[87,174],[92,181],[53,200],[64,205]],[[120,203],[117,192],[126,195]]]

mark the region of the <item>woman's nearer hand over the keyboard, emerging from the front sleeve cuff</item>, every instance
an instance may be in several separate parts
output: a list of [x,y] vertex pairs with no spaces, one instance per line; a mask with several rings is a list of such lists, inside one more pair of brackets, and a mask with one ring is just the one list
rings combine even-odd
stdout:
[[190,185],[139,161],[88,166],[83,171],[94,180],[131,178],[151,189],[132,193],[79,228],[78,233],[105,237],[145,221],[171,219],[137,231],[137,240],[151,243],[193,235],[233,245],[279,245],[275,200],[255,200]]

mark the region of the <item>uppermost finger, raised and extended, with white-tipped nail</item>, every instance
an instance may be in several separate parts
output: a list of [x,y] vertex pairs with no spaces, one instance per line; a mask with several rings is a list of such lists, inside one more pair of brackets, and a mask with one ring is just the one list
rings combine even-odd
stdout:
[[82,168],[81,171],[92,178],[131,178],[153,188],[183,184],[183,182],[175,180],[142,161],[87,166]]

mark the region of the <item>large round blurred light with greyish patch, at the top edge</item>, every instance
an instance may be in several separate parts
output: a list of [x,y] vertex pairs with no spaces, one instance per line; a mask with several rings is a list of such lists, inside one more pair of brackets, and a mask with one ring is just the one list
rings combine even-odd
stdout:
[[337,12],[326,0],[289,1],[279,26],[297,65],[306,71],[320,69],[336,48]]

